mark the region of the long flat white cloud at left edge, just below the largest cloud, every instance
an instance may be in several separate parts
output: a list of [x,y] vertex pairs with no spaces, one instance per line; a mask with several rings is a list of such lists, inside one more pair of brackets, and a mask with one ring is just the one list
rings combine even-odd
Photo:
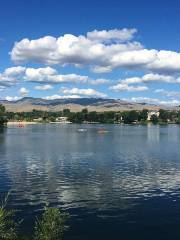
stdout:
[[75,73],[60,74],[52,67],[43,68],[25,68],[21,66],[11,67],[0,73],[0,86],[12,86],[19,82],[36,82],[36,83],[82,83],[82,84],[108,84],[110,80],[97,78],[92,79],[85,75]]

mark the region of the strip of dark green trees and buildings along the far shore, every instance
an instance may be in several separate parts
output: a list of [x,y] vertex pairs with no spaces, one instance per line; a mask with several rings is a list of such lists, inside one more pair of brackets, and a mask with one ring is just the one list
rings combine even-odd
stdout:
[[26,122],[26,123],[103,123],[103,124],[180,124],[180,111],[176,110],[147,110],[142,111],[129,110],[123,112],[88,112],[83,109],[81,112],[71,112],[64,109],[59,112],[46,112],[33,110],[31,112],[7,112],[3,105],[0,105],[0,125],[7,122]]

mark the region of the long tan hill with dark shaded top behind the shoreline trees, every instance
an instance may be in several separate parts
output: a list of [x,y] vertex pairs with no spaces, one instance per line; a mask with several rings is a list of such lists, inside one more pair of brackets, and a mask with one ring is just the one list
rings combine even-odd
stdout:
[[[25,97],[17,101],[0,100],[0,103],[6,107],[7,111],[23,112],[44,110],[44,111],[61,111],[65,108],[71,111],[81,111],[87,108],[89,111],[124,111],[124,110],[141,110],[159,109],[162,106],[148,105],[146,103],[132,103],[118,99],[104,99],[104,98],[67,98],[45,100],[42,98]],[[163,107],[167,108],[167,107]]]

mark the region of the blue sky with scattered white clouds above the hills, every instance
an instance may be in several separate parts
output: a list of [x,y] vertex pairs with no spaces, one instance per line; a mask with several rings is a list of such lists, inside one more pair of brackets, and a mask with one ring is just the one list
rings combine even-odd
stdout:
[[180,105],[179,1],[2,0],[0,98]]

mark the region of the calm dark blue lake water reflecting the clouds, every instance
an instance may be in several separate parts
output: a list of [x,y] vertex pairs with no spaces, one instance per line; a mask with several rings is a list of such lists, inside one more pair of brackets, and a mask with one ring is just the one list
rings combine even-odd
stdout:
[[101,127],[0,130],[0,199],[12,190],[28,233],[49,202],[71,215],[67,240],[179,240],[180,126]]

